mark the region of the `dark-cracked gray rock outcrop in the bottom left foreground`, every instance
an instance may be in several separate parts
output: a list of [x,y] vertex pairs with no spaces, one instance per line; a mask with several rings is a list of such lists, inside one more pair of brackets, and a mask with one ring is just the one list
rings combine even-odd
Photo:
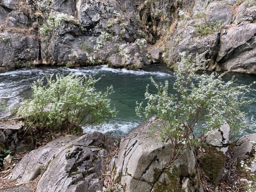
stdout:
[[36,192],[101,190],[103,156],[114,142],[99,132],[54,140],[27,154],[13,168],[12,180],[27,183],[44,172]]

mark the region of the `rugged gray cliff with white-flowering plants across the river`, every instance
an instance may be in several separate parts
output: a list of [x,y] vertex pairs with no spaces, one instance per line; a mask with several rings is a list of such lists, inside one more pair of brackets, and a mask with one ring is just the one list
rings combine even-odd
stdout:
[[2,0],[0,67],[175,68],[208,51],[208,70],[256,74],[255,21],[255,0]]

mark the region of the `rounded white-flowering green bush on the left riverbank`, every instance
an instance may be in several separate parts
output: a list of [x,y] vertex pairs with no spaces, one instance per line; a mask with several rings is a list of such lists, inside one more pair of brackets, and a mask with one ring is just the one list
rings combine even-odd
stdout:
[[20,109],[30,125],[75,134],[81,127],[100,125],[116,116],[116,109],[110,107],[107,98],[113,87],[107,87],[104,93],[94,88],[100,78],[70,73],[68,76],[56,75],[56,80],[53,75],[46,79],[46,85],[43,85],[44,78],[32,85],[33,99],[26,101]]

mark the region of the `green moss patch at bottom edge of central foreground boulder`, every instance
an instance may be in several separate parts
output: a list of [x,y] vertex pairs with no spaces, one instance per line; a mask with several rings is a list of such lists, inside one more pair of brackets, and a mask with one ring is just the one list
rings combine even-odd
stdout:
[[161,192],[185,192],[185,189],[181,188],[180,180],[179,180],[179,173],[170,169],[165,170],[164,173],[168,176],[169,181],[162,181],[156,182],[153,189],[154,191],[161,191]]

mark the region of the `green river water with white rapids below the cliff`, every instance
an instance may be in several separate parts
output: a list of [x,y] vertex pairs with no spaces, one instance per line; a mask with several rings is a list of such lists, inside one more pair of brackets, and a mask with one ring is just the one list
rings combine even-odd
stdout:
[[[136,117],[135,113],[135,102],[145,101],[144,93],[147,84],[150,84],[150,76],[158,83],[168,80],[169,87],[172,87],[171,84],[175,81],[173,72],[161,64],[149,65],[142,70],[112,69],[106,65],[75,69],[65,67],[22,68],[0,74],[0,98],[27,99],[31,97],[30,86],[34,81],[43,76],[61,74],[62,71],[65,75],[72,72],[81,76],[92,75],[95,78],[104,75],[95,85],[99,91],[105,91],[107,86],[113,85],[115,92],[110,95],[111,104],[115,105],[119,113],[108,124],[104,124],[100,132],[114,136],[123,136],[140,124],[141,120]],[[250,84],[256,81],[256,76],[234,73],[226,74],[224,80],[228,80],[232,76],[237,79],[236,84]],[[256,89],[256,86],[253,86]],[[251,92],[247,96],[254,98],[256,93]],[[251,118],[256,115],[256,104],[253,103],[243,110],[251,111],[247,116],[247,118]],[[251,124],[244,133],[252,133],[254,130],[256,127]]]

